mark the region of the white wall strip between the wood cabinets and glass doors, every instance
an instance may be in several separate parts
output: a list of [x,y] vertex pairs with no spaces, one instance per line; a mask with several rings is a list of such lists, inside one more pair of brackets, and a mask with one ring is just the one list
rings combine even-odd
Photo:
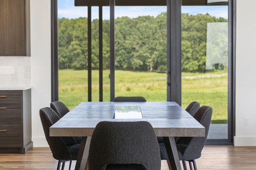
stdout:
[[32,141],[34,147],[48,146],[39,109],[51,102],[51,4],[30,0]]

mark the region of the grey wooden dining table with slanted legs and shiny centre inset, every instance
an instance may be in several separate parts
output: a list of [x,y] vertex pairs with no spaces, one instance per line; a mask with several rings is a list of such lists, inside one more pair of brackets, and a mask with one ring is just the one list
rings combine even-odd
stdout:
[[100,121],[148,121],[156,136],[164,138],[172,170],[181,170],[174,137],[205,136],[204,126],[176,102],[81,102],[49,129],[52,137],[82,137],[76,170],[88,164],[92,133]]

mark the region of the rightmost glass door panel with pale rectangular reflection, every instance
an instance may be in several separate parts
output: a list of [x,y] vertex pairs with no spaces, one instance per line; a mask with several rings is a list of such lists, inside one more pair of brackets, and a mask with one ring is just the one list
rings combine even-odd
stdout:
[[211,106],[208,139],[228,138],[228,6],[182,6],[182,107]]

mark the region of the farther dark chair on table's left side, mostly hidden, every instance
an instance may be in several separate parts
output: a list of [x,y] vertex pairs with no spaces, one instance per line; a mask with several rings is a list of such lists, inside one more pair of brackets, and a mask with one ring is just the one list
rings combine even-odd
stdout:
[[[68,107],[60,101],[51,102],[50,107],[58,114],[60,118],[69,112]],[[78,144],[80,144],[82,141],[82,137],[74,137],[74,139],[76,139]]]

